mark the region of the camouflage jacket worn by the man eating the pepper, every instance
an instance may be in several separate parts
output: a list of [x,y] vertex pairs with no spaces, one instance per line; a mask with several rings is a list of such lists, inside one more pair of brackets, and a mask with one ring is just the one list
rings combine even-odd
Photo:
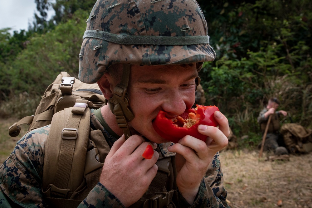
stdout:
[[[101,129],[106,140],[114,143],[116,138],[110,136],[94,114],[90,112],[91,128]],[[23,136],[16,144],[14,151],[0,167],[0,207],[46,207],[41,184],[44,161],[44,147],[50,125],[37,128]],[[173,156],[166,152],[168,144],[159,144],[159,155]],[[170,144],[169,144],[170,145]],[[178,192],[178,191],[177,191]],[[203,178],[197,198],[189,205],[178,194],[179,207],[228,207],[227,191],[223,186],[223,175],[217,153]],[[124,207],[122,203],[100,182],[78,207]]]

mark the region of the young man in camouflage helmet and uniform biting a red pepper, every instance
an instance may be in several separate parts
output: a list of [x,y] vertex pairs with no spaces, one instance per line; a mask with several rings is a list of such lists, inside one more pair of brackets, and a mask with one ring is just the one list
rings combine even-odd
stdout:
[[[214,58],[206,21],[193,0],[95,3],[79,79],[97,82],[108,99],[90,110],[91,129],[104,135],[95,143],[104,165],[79,207],[228,207],[218,154],[228,143],[227,118],[215,112],[218,128],[198,127],[206,142],[185,136],[173,144],[152,124],[159,110],[175,118],[192,107],[202,62]],[[50,205],[42,188],[49,129],[26,134],[0,168],[0,203]],[[143,159],[148,144],[154,155]],[[166,172],[160,168],[163,161],[169,171],[165,178],[160,176]]]

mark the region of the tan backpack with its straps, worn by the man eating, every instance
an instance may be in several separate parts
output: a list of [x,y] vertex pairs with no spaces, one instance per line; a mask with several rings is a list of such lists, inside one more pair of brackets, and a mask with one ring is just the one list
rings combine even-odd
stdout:
[[[9,127],[10,136],[51,124],[44,148],[41,191],[52,207],[77,207],[98,183],[110,151],[101,130],[90,129],[90,109],[105,104],[97,84],[85,84],[61,72],[46,89],[34,116]],[[175,207],[174,157],[160,158],[152,186],[131,207]],[[166,186],[172,189],[166,191]]]

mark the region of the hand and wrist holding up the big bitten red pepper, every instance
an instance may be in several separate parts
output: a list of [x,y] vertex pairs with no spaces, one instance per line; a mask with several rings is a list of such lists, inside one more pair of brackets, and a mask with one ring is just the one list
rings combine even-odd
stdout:
[[168,151],[176,152],[177,186],[189,204],[193,204],[212,158],[228,143],[230,130],[227,118],[219,111],[216,111],[214,116],[219,128],[198,126],[198,131],[207,136],[206,143],[192,136],[185,136],[168,148]]

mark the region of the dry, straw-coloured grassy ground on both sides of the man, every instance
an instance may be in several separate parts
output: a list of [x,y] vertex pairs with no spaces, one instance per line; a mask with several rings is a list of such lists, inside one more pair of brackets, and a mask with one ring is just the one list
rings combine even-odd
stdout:
[[[22,136],[8,136],[18,119],[0,119],[0,162]],[[22,131],[27,125],[22,127]],[[273,154],[259,150],[224,150],[220,153],[227,201],[232,208],[312,208],[312,152],[267,161]]]

